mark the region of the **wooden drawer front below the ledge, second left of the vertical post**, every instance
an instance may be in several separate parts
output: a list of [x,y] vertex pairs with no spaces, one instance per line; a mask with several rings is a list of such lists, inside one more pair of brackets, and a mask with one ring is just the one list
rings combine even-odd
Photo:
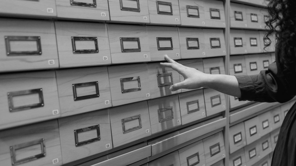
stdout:
[[202,140],[178,150],[181,166],[205,165],[205,152]]

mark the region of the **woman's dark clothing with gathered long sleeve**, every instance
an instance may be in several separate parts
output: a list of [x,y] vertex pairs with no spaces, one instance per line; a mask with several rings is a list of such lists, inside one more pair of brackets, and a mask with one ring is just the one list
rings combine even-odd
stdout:
[[[287,102],[296,95],[296,64],[290,64],[293,71],[283,71],[280,54],[276,49],[276,62],[258,75],[236,76],[241,90],[239,100],[257,102]],[[272,166],[296,165],[296,104],[287,113],[280,129]]]

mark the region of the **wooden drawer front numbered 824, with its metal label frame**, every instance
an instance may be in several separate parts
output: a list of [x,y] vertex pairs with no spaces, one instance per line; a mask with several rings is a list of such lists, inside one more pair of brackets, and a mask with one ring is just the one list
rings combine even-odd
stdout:
[[60,68],[111,64],[105,24],[55,22]]

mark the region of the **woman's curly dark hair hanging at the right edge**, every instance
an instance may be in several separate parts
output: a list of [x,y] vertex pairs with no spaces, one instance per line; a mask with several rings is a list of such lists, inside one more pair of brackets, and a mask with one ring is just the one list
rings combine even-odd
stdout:
[[[277,39],[276,47],[280,50],[280,62],[284,71],[294,71],[296,61],[296,0],[266,0],[269,17],[266,20],[268,45],[271,35]],[[266,46],[266,47],[267,47]],[[265,47],[265,48],[266,48]],[[294,67],[294,69],[292,69]]]

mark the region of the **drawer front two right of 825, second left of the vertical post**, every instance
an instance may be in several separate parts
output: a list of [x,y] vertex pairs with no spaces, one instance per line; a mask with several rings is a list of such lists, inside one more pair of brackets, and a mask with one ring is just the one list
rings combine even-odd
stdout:
[[178,27],[181,58],[205,57],[205,36],[202,29]]

